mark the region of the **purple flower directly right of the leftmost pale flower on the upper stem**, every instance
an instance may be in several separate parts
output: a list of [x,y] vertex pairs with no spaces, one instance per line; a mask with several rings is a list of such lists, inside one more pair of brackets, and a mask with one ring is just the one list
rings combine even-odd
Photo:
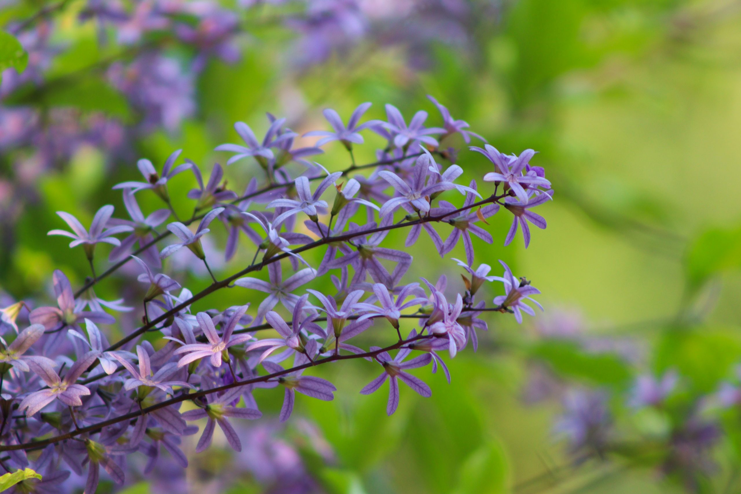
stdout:
[[[149,244],[152,240],[152,233],[155,227],[159,227],[167,218],[170,218],[170,210],[162,209],[156,210],[146,218],[142,214],[142,210],[139,209],[139,204],[136,202],[134,193],[130,189],[124,189],[124,205],[129,213],[132,221],[112,218],[108,221],[108,224],[113,225],[126,225],[133,229],[130,236],[127,236],[121,241],[118,247],[114,247],[110,251],[108,260],[115,262],[125,258],[131,252],[131,249],[136,242],[139,242],[139,247]],[[155,232],[156,233],[156,232]],[[159,259],[159,253],[157,252],[156,245],[152,244],[147,247],[147,250],[142,252],[142,257],[147,259],[147,262],[153,267],[162,267],[162,261]]]

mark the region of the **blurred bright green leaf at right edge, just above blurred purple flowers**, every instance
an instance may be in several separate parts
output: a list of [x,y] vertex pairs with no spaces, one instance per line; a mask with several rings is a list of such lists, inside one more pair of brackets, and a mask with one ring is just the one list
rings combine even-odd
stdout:
[[741,337],[706,327],[669,330],[655,350],[658,373],[676,369],[694,393],[710,393],[741,360]]

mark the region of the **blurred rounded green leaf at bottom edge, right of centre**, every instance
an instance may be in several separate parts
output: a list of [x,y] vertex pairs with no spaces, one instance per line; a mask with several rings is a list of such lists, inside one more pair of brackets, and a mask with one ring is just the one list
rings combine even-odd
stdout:
[[499,441],[489,441],[471,453],[460,468],[454,494],[508,493],[509,464]]

